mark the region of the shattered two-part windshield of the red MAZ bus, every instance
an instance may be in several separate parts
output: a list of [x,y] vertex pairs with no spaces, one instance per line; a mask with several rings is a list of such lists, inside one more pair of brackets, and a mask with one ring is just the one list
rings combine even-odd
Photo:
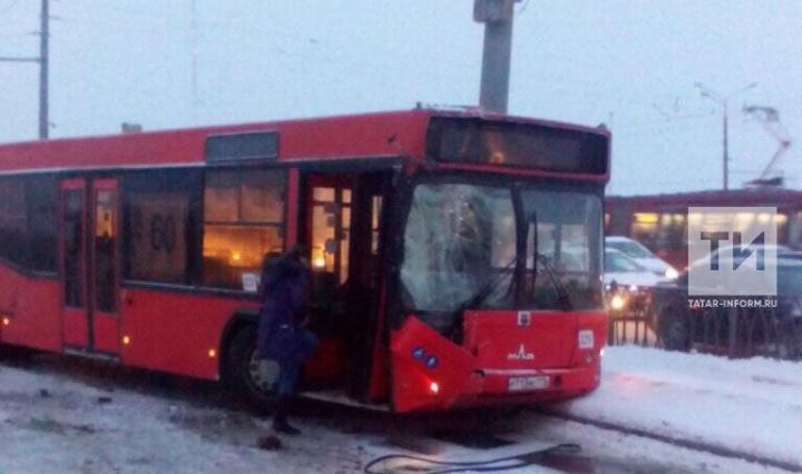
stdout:
[[[429,312],[456,312],[469,303],[510,308],[516,298],[532,309],[567,309],[565,300],[573,308],[599,306],[599,199],[525,190],[520,200],[528,218],[517,225],[510,188],[419,185],[404,234],[401,282],[407,306]],[[522,231],[526,254],[517,255]],[[534,271],[536,255],[540,258]],[[526,261],[520,288],[514,284],[517,260]]]

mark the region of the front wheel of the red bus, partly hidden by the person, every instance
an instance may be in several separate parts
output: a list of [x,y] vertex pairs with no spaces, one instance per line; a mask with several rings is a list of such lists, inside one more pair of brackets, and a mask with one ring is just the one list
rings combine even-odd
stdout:
[[[272,362],[271,362],[272,363]],[[275,364],[275,363],[272,363]],[[275,381],[262,381],[256,353],[256,325],[242,327],[231,340],[226,354],[226,375],[229,386],[247,402],[268,406],[275,399]],[[272,371],[278,376],[277,365]]]

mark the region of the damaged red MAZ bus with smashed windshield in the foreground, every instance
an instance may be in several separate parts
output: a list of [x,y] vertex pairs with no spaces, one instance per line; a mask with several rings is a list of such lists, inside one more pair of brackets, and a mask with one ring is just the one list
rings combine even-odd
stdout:
[[576,396],[607,330],[608,156],[604,129],[426,109],[0,146],[0,342],[264,398],[260,264],[299,243],[307,393]]

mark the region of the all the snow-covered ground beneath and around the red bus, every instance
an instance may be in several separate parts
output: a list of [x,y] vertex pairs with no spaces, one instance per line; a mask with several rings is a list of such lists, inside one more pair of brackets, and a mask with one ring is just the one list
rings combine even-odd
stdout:
[[[594,395],[556,409],[802,463],[799,364],[614,347],[604,372]],[[399,418],[304,404],[304,435],[263,451],[260,416],[208,384],[164,381],[52,357],[1,363],[0,473],[351,473],[391,453],[476,461],[555,443],[583,450],[518,471],[785,472],[529,412]]]

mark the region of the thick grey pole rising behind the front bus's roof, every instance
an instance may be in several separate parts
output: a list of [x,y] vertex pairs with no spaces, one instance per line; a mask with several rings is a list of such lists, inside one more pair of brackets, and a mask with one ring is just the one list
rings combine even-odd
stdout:
[[479,106],[507,113],[514,6],[519,0],[475,0],[473,20],[485,23]]

